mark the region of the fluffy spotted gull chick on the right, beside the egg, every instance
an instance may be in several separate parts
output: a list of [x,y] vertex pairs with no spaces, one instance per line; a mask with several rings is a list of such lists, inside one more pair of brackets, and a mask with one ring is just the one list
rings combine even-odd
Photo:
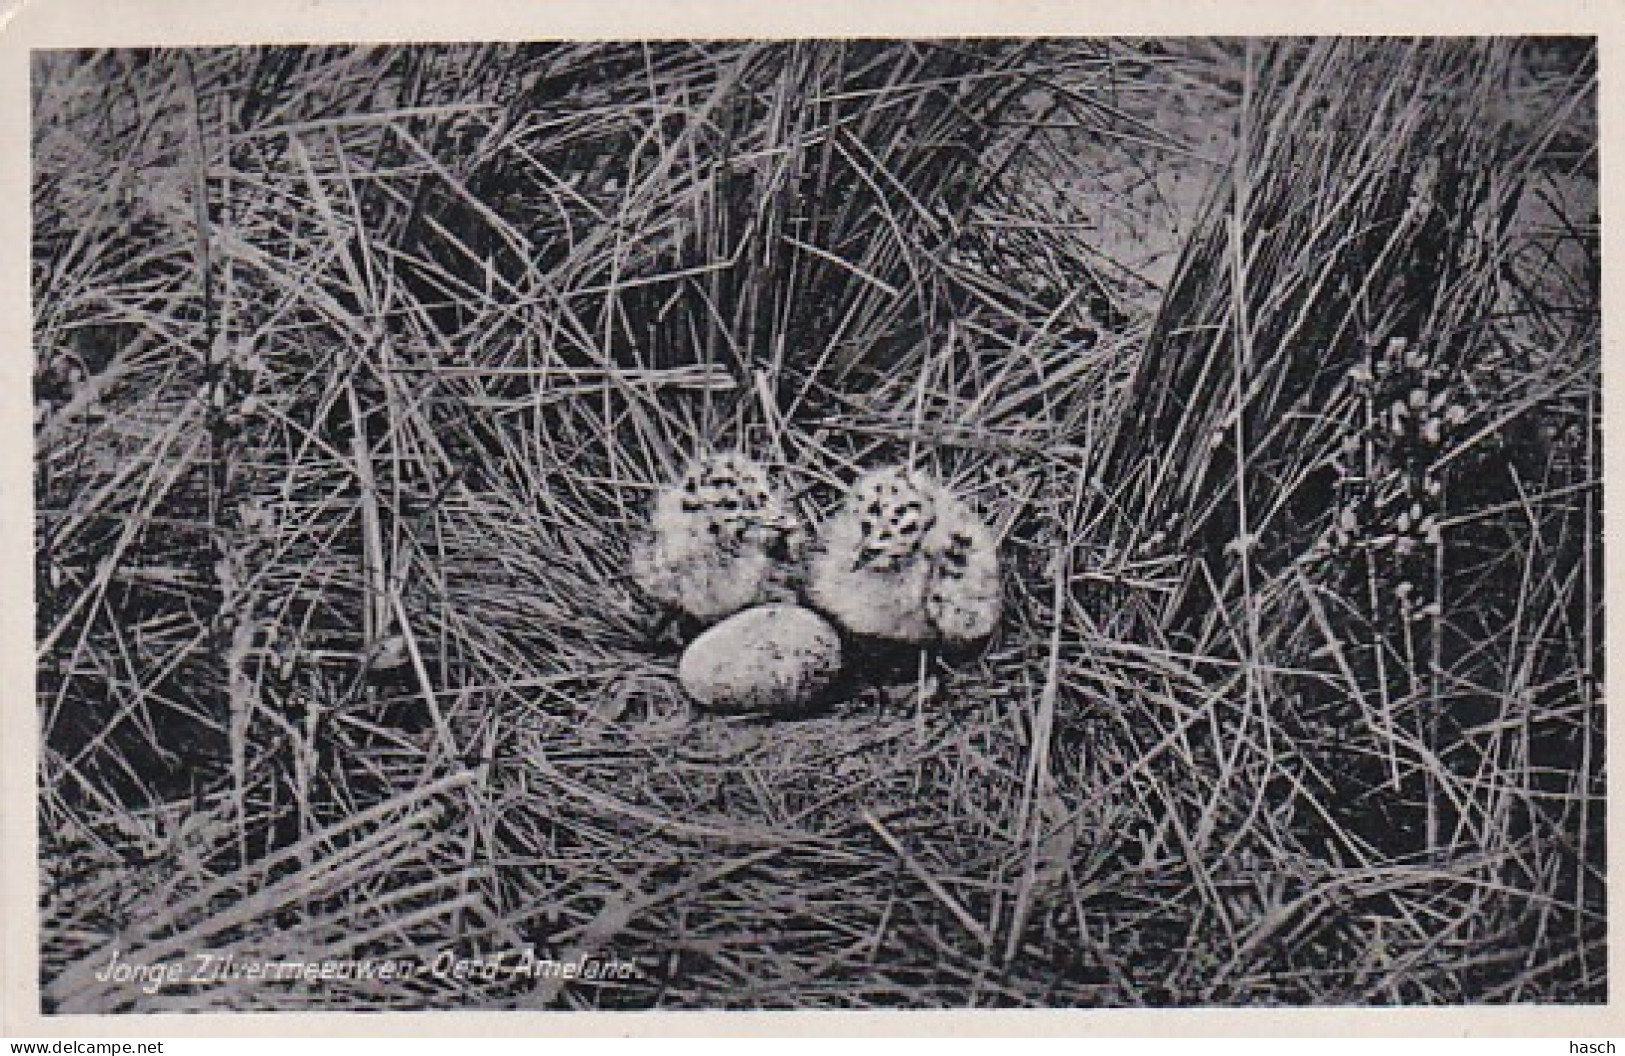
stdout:
[[806,590],[858,637],[977,642],[999,621],[998,546],[970,505],[930,476],[873,470],[819,531]]

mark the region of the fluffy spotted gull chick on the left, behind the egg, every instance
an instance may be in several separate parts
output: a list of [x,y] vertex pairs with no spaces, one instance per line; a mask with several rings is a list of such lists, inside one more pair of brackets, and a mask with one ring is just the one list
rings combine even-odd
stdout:
[[801,547],[796,517],[744,455],[699,458],[655,496],[632,578],[676,614],[713,622],[764,601]]

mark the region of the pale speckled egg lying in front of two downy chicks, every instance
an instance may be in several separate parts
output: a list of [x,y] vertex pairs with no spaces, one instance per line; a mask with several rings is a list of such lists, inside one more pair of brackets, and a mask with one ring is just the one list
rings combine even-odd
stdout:
[[838,673],[840,635],[795,604],[736,612],[694,638],[678,663],[682,689],[723,715],[803,715]]

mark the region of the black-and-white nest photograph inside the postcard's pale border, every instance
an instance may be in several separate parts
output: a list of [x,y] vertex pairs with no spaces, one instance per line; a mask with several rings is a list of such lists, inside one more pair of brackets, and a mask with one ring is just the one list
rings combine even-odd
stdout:
[[28,67],[46,1020],[1609,1002],[1597,37]]

